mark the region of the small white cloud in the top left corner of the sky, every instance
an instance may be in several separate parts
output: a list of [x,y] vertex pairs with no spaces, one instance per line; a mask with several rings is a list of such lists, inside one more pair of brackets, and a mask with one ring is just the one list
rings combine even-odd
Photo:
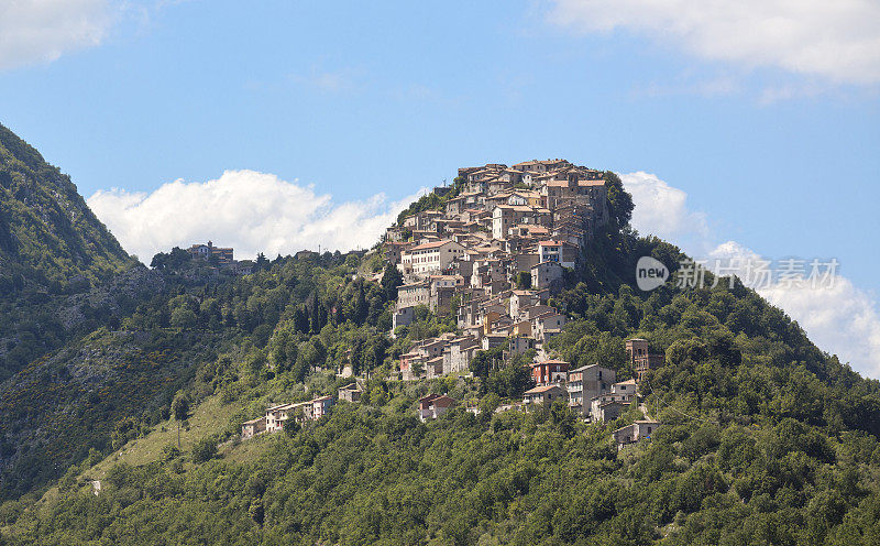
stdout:
[[109,0],[0,2],[0,69],[50,63],[99,45],[113,23]]

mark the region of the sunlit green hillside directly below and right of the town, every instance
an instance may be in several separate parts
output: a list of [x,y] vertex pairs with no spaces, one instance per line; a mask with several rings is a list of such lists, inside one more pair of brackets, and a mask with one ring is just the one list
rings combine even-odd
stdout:
[[[490,408],[516,396],[522,386],[509,379],[518,362],[475,369],[468,381],[387,382],[381,378],[405,343],[369,346],[387,304],[380,285],[345,281],[360,260],[328,271],[288,259],[257,275],[263,290],[251,295],[261,294],[253,304],[263,321],[251,323],[251,349],[199,367],[184,389],[244,408],[206,429],[207,441],[233,439],[266,403],[333,392],[332,374],[309,369],[334,369],[348,347],[375,378],[362,403],[290,434],[222,444],[207,457],[198,441],[176,451],[166,434],[164,450],[155,439],[130,447],[133,465],[125,451],[94,469],[86,460],[38,507],[3,504],[3,536],[47,545],[877,544],[880,385],[818,351],[741,285],[635,291],[626,264],[645,251],[676,254],[673,247],[607,233],[591,252],[608,245],[623,253],[594,258],[619,263],[607,271],[619,286],[592,292],[590,283],[612,283],[585,272],[560,294],[556,303],[574,320],[554,347],[572,362],[602,359],[622,376],[632,372],[617,357],[625,338],[638,334],[664,350],[668,363],[651,376],[644,406],[664,423],[650,443],[617,452],[610,441],[610,430],[640,418],[639,410],[594,425],[564,405],[480,416],[458,408],[419,423],[414,403],[428,392]],[[266,315],[268,302],[297,291],[318,294],[326,309],[339,304],[345,320],[309,310],[308,302]],[[211,320],[201,309],[194,316]],[[428,314],[402,335],[448,328]]]

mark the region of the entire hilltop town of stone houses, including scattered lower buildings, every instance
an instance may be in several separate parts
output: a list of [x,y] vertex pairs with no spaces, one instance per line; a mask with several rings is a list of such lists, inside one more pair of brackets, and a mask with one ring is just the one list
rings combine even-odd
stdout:
[[[626,341],[635,378],[623,381],[601,362],[570,369],[547,349],[568,321],[549,305],[550,297],[582,266],[585,245],[608,222],[603,173],[565,160],[490,163],[459,168],[454,185],[435,188],[433,196],[428,208],[403,214],[383,238],[383,258],[403,282],[389,336],[413,324],[419,307],[454,315],[458,328],[415,341],[388,379],[468,376],[481,351],[499,349],[505,360],[534,354],[527,364],[534,387],[498,411],[563,401],[586,421],[614,421],[638,403],[639,382],[663,363],[648,341]],[[374,279],[384,274],[387,269]],[[340,389],[338,398],[356,402],[361,392],[354,382]],[[242,437],[280,430],[288,418],[316,421],[333,403],[332,396],[321,396],[274,405],[244,423]],[[457,403],[448,395],[428,395],[418,402],[418,416],[436,418]],[[623,447],[658,425],[637,421],[614,438]]]

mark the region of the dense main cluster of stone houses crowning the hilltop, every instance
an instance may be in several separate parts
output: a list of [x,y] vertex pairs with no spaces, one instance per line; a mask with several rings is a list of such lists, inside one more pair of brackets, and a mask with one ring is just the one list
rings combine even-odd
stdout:
[[608,221],[602,173],[565,160],[460,168],[459,179],[443,210],[408,216],[385,234],[385,259],[404,276],[394,330],[424,305],[454,313],[460,331],[415,343],[400,357],[404,380],[466,373],[476,351],[498,346],[541,354],[566,321],[550,294]]

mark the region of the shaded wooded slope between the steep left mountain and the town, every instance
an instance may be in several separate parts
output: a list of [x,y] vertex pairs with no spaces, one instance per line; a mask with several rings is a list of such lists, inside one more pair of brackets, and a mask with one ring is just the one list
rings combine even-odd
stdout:
[[[197,402],[223,389],[237,396],[275,371],[302,381],[350,347],[322,345],[328,324],[389,328],[389,292],[353,282],[359,264],[358,255],[326,253],[276,260],[242,277],[153,272],[154,292],[133,297],[130,310],[0,383],[2,496],[40,488],[90,450],[109,454],[120,438],[148,430],[167,418],[180,389]],[[375,327],[372,336],[382,339]]]

